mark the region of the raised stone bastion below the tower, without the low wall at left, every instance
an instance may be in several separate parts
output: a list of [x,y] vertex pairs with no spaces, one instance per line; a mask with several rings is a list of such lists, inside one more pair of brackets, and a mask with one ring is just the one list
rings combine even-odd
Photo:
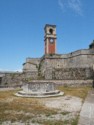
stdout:
[[[38,79],[38,75],[46,79],[87,79],[86,69],[92,69],[93,65],[94,50],[86,49],[63,55],[44,55],[40,59],[27,58],[23,71],[27,73],[26,77],[31,76],[32,79]],[[57,72],[55,69],[61,70]],[[53,76],[53,70],[55,70],[56,76],[55,74]],[[88,70],[88,72],[91,71]],[[58,74],[63,75],[59,77]]]

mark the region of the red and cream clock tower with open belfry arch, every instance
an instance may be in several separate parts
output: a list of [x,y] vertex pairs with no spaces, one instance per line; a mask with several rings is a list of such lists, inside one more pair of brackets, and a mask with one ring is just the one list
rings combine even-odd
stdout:
[[45,54],[55,54],[56,53],[56,25],[46,24],[45,28]]

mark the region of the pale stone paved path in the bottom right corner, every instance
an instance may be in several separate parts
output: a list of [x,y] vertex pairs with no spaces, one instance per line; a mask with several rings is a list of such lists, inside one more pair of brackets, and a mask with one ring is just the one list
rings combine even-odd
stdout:
[[82,106],[78,125],[94,125],[94,89],[92,89]]

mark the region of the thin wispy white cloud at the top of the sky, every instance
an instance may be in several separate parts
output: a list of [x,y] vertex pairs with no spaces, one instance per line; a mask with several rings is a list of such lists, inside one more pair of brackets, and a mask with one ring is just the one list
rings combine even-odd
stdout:
[[73,10],[76,14],[82,16],[82,3],[81,0],[58,0],[58,5],[64,12],[68,9]]

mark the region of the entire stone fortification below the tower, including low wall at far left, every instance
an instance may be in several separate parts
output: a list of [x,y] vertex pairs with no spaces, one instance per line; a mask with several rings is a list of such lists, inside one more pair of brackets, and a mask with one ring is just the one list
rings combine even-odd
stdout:
[[30,79],[69,80],[71,83],[71,80],[94,79],[93,70],[94,49],[44,55],[41,58],[27,58],[22,73],[0,73],[0,85],[20,85],[23,80]]

